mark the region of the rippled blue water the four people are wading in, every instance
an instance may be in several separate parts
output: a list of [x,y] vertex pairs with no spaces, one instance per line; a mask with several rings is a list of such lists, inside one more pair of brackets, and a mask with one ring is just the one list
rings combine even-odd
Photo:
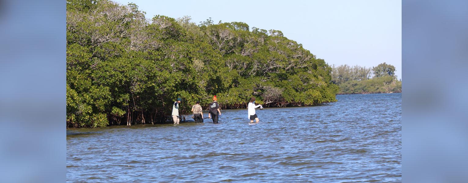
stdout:
[[401,93],[223,110],[219,124],[67,130],[69,182],[401,182]]

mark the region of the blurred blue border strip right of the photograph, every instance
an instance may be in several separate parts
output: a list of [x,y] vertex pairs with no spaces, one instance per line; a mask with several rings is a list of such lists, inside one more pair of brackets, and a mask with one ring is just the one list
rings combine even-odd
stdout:
[[468,178],[468,1],[402,1],[402,180]]

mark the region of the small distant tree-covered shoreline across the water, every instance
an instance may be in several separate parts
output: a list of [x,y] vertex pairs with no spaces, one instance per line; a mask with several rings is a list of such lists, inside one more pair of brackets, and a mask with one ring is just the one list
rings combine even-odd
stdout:
[[402,92],[402,82],[396,80],[395,67],[387,63],[372,69],[333,65],[331,75],[332,82],[340,87],[338,94]]

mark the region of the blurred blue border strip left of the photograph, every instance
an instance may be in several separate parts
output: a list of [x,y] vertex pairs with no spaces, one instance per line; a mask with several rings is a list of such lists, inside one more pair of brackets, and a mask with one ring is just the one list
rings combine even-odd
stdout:
[[0,2],[0,182],[66,181],[66,1]]

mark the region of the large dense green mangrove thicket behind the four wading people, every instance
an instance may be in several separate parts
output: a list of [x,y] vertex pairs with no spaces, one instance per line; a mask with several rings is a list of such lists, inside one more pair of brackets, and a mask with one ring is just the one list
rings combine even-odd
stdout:
[[217,95],[223,109],[336,101],[331,68],[281,31],[157,15],[109,0],[67,0],[69,127],[165,122]]

